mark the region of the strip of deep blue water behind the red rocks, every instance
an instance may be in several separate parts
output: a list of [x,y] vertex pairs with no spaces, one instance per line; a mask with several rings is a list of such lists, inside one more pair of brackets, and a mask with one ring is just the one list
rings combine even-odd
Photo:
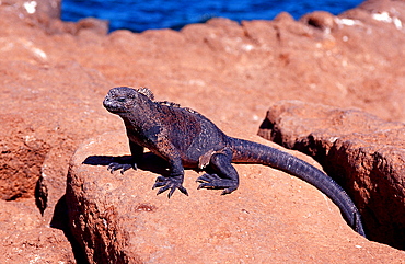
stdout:
[[273,20],[286,11],[294,19],[323,10],[339,14],[361,0],[62,0],[62,20],[78,21],[93,16],[108,20],[111,31],[125,28],[142,32],[151,28],[180,30],[221,16],[234,21]]

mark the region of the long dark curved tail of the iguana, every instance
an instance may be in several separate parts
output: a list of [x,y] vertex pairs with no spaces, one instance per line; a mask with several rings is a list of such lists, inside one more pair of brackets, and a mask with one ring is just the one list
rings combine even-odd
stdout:
[[231,144],[234,149],[232,162],[270,165],[312,184],[339,207],[343,217],[356,232],[366,237],[359,210],[345,190],[332,177],[278,149],[239,138],[231,138]]

